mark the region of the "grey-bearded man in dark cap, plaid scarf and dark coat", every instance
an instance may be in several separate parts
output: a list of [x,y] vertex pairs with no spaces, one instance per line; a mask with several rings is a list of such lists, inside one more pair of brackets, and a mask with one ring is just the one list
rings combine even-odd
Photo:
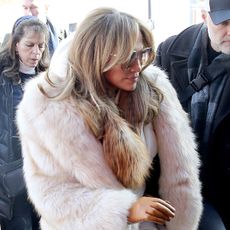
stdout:
[[197,135],[199,229],[224,230],[230,229],[230,0],[207,0],[201,15],[202,24],[159,45],[155,64],[168,73]]

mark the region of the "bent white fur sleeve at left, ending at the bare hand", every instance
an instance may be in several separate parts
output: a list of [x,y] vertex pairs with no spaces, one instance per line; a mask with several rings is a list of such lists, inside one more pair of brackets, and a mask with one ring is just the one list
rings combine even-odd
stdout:
[[136,195],[118,183],[76,105],[71,99],[48,100],[38,90],[40,78],[26,85],[17,124],[26,185],[41,225],[44,229],[126,229]]

